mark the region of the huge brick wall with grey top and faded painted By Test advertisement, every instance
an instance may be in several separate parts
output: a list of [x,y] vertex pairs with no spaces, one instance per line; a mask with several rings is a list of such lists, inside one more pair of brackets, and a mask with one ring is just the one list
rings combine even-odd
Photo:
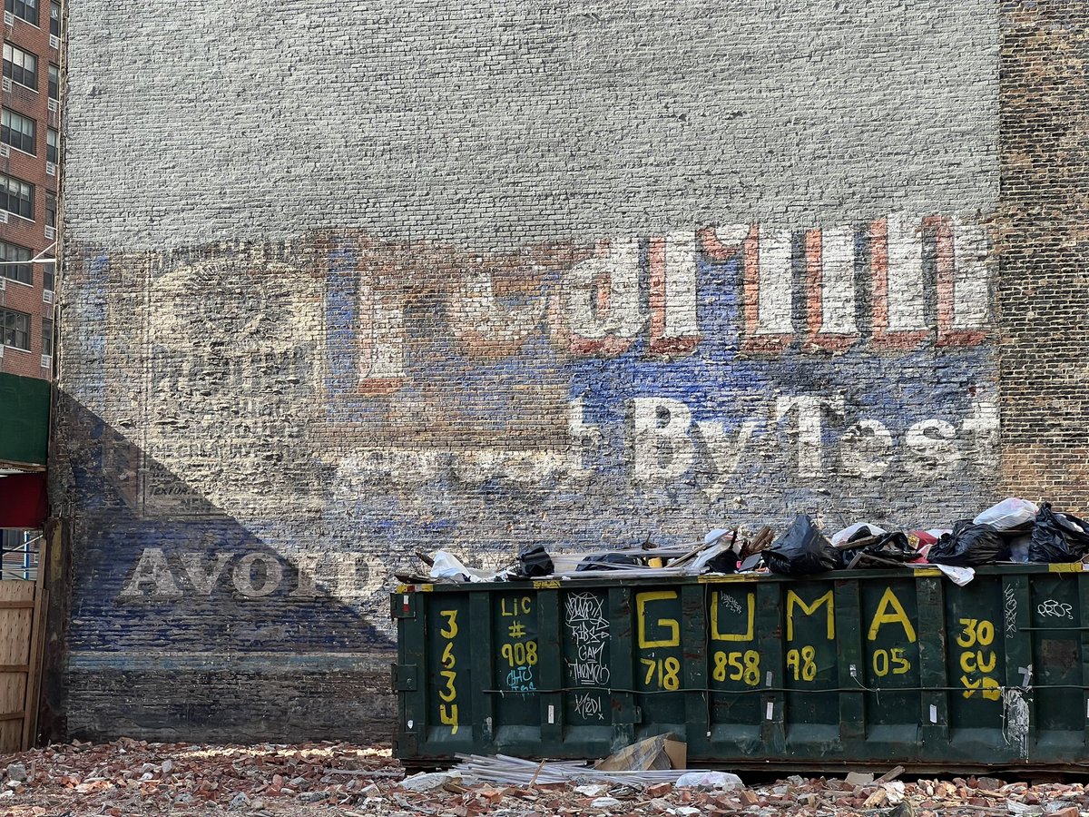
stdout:
[[388,732],[415,550],[1082,502],[1045,7],[74,5],[70,733]]

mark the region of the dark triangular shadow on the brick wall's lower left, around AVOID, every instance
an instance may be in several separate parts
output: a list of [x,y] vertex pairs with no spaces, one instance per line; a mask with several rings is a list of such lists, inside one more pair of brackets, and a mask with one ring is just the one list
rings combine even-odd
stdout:
[[[59,451],[54,470],[72,542],[71,609],[57,593],[51,611],[66,637],[47,658],[54,734],[383,736],[363,729],[392,723],[394,645],[343,598],[352,554],[322,553],[305,520],[258,535],[63,393],[58,425],[59,439],[84,444]],[[185,516],[151,517],[134,501],[149,473],[156,491],[184,498]]]

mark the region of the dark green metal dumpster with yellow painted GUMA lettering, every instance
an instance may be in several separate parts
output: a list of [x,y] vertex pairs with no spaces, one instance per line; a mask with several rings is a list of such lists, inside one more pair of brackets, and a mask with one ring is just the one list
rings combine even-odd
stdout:
[[1082,565],[407,585],[395,754],[914,771],[1089,761]]

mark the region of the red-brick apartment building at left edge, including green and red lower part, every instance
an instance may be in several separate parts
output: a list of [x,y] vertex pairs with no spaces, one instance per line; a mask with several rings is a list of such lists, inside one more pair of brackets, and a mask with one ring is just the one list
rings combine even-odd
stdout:
[[[62,8],[4,0],[0,89],[0,528],[45,516],[53,371]],[[19,533],[13,533],[17,529]]]

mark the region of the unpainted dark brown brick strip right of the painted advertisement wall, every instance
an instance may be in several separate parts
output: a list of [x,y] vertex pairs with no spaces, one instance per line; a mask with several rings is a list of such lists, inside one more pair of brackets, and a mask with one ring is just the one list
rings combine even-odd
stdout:
[[1010,3],[1002,32],[1002,476],[1089,504],[1089,9]]

